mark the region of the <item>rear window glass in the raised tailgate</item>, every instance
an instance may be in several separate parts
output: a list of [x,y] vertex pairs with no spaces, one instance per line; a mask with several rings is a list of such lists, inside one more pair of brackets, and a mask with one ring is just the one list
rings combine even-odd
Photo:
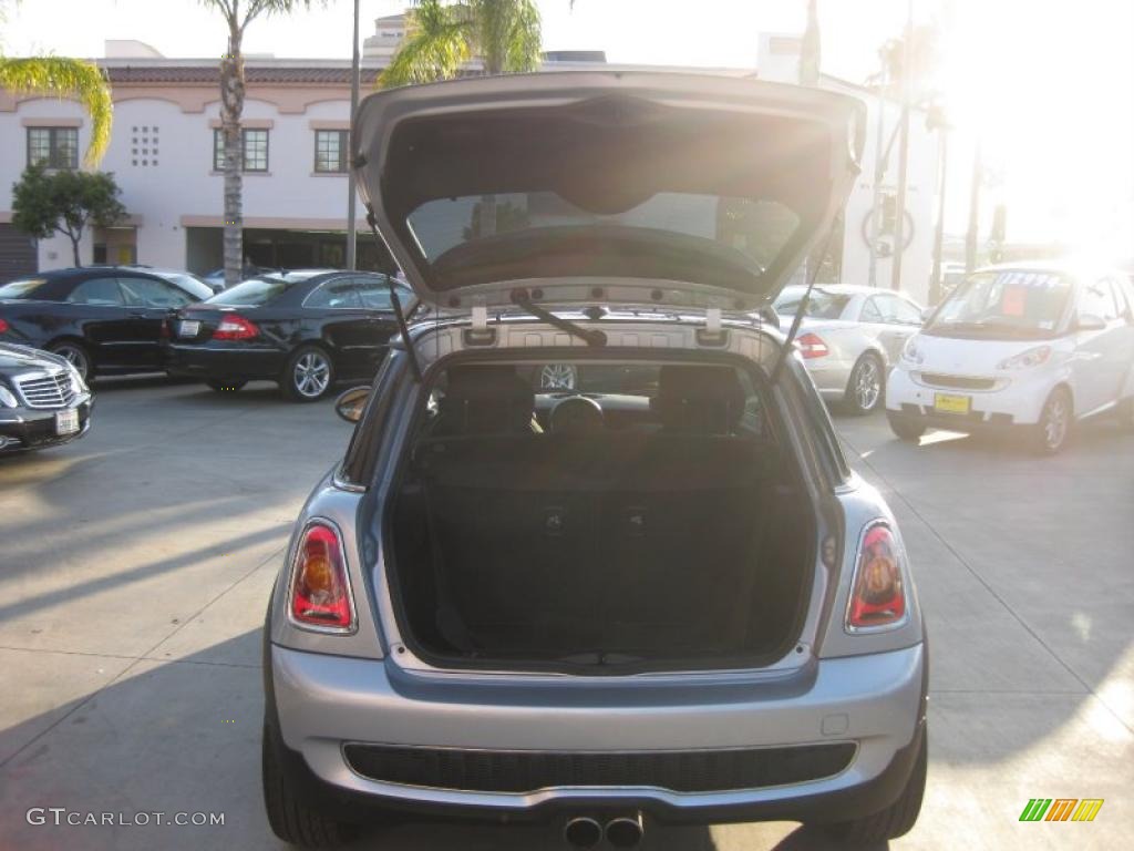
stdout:
[[541,189],[431,200],[407,222],[443,289],[500,273],[743,288],[782,253],[799,217],[778,201],[680,192],[608,212]]

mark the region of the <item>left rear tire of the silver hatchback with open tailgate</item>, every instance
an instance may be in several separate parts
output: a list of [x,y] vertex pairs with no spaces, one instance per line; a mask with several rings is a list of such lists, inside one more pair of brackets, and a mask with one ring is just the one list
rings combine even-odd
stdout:
[[304,799],[284,770],[284,739],[276,727],[264,722],[261,748],[261,776],[268,824],[279,839],[293,845],[313,849],[338,848],[349,839],[350,827],[328,817]]

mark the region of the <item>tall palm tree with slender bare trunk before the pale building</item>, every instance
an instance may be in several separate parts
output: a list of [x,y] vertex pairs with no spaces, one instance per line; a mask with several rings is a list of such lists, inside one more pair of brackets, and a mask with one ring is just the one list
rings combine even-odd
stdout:
[[[322,2],[323,0],[320,0]],[[244,212],[240,169],[244,150],[240,113],[244,112],[244,54],[242,43],[248,24],[260,16],[287,15],[312,0],[201,0],[217,9],[228,25],[228,50],[220,60],[220,124],[225,136],[225,286],[239,283],[244,268]]]

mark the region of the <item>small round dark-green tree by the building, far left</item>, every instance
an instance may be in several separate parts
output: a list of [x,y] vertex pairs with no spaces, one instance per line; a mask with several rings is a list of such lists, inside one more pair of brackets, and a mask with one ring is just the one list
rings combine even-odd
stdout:
[[45,239],[60,233],[71,242],[75,266],[87,225],[110,227],[126,218],[115,176],[105,171],[48,171],[41,163],[24,169],[11,187],[11,222],[28,236]]

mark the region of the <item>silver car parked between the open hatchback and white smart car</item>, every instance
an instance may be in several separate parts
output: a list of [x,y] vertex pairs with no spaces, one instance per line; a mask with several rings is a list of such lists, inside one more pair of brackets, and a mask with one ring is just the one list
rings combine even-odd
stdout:
[[[786,287],[776,300],[784,331],[792,327],[804,289]],[[881,406],[886,376],[921,329],[923,312],[912,298],[887,289],[815,286],[796,344],[823,398],[854,414]]]

